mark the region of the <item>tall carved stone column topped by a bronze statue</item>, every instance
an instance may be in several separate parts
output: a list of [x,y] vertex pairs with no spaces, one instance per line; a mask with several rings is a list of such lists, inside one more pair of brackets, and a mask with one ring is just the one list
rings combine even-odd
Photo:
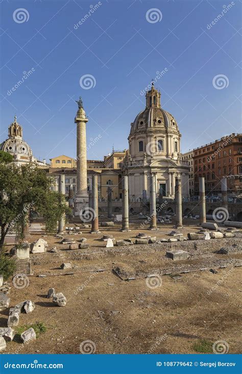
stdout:
[[86,148],[86,118],[82,98],[77,101],[78,111],[75,117],[77,123],[77,193],[75,198],[75,216],[79,216],[83,208],[88,207],[87,193],[87,148]]

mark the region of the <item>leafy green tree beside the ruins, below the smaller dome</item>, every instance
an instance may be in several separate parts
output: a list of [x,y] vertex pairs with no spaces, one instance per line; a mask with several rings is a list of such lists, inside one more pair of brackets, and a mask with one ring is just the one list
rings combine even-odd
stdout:
[[68,209],[65,197],[51,191],[53,180],[36,166],[15,166],[0,163],[0,251],[11,229],[21,238],[22,228],[29,220],[29,211],[43,216],[47,233],[54,233],[57,222]]

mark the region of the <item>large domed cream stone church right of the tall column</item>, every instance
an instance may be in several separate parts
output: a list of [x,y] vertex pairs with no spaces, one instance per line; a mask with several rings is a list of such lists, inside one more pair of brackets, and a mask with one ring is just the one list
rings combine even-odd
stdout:
[[129,152],[124,172],[129,177],[129,195],[150,195],[150,176],[156,180],[156,194],[175,197],[175,179],[181,179],[182,196],[189,196],[189,166],[181,161],[181,134],[175,118],[160,104],[160,92],[154,85],[146,94],[146,108],[131,123]]

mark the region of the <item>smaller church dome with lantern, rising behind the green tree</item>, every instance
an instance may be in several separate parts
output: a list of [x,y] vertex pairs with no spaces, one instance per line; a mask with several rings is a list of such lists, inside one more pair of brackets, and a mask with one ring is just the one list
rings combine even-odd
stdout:
[[0,150],[10,153],[18,162],[33,161],[33,153],[29,144],[22,139],[22,127],[17,122],[16,116],[8,128],[9,138],[0,144]]

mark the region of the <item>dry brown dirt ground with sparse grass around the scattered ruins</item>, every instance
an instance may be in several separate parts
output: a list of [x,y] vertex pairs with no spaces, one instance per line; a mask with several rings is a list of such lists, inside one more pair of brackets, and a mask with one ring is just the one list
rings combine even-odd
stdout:
[[[198,231],[197,225],[187,221],[179,232],[186,236]],[[197,353],[193,345],[203,339],[211,343],[225,340],[229,353],[240,352],[241,238],[113,248],[106,248],[100,240],[104,234],[135,240],[139,232],[159,240],[170,238],[167,233],[174,230],[172,224],[155,232],[141,230],[138,220],[130,226],[129,233],[119,232],[120,225],[115,223],[113,228],[101,228],[100,235],[89,234],[89,229],[82,229],[80,235],[65,234],[76,242],[87,238],[88,250],[70,251],[60,239],[44,236],[49,248],[47,253],[31,255],[29,285],[17,289],[9,282],[9,297],[10,306],[24,300],[36,305],[32,313],[21,313],[19,326],[41,321],[47,331],[30,344],[8,342],[5,353],[78,354],[86,340],[96,354]],[[42,235],[33,234],[31,241]],[[58,253],[49,252],[54,245]],[[235,251],[228,255],[214,253],[232,245]],[[165,257],[166,251],[179,248],[189,253],[188,260],[174,262]],[[61,270],[63,262],[71,262],[72,269]],[[116,267],[135,279],[120,279],[113,272]],[[187,270],[198,271],[183,272]],[[68,272],[74,274],[64,275]],[[171,274],[165,275],[167,272]],[[46,298],[52,287],[66,296],[65,307]],[[9,309],[0,312],[1,327],[7,326],[8,314]]]

